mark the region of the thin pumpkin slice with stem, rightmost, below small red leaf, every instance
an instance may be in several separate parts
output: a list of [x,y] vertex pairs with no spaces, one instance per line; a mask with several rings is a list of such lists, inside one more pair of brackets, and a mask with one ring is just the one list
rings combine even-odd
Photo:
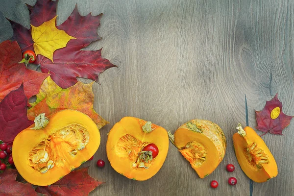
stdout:
[[277,176],[278,167],[263,139],[249,126],[237,126],[233,142],[238,163],[254,182],[265,182]]

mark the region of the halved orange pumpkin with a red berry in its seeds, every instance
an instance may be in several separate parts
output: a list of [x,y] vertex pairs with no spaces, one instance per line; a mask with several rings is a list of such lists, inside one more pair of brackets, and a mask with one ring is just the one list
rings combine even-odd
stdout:
[[[148,151],[143,151],[149,144],[158,147],[155,158]],[[127,178],[140,181],[151,178],[160,170],[168,149],[169,137],[164,128],[134,117],[124,117],[116,123],[110,130],[106,143],[107,157],[112,168]]]

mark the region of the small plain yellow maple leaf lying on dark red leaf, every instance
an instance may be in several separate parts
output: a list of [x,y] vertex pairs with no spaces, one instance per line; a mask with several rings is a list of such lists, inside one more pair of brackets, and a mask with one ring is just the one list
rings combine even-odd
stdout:
[[68,35],[64,30],[56,28],[56,17],[57,16],[37,27],[31,25],[36,55],[42,54],[43,56],[49,58],[52,62],[53,52],[56,49],[62,49],[66,47],[67,43],[71,39],[76,39]]

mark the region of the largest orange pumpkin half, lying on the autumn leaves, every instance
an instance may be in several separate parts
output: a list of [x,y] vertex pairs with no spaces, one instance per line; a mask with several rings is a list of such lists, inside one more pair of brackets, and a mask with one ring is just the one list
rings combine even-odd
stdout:
[[14,139],[12,156],[18,172],[31,184],[47,186],[90,159],[100,144],[97,125],[75,110],[61,110],[45,128],[34,124]]

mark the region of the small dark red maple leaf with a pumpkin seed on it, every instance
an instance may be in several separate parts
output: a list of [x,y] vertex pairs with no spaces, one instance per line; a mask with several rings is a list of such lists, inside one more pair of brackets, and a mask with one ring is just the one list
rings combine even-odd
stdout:
[[[290,124],[292,116],[287,116],[282,112],[282,102],[278,99],[278,94],[270,101],[266,102],[263,110],[255,111],[257,127],[256,129],[271,134],[283,135],[282,131]],[[264,135],[263,134],[263,135]]]

